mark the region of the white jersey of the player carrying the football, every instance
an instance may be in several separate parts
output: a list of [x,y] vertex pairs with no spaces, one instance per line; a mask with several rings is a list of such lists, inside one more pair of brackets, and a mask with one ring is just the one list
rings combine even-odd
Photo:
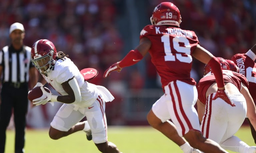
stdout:
[[59,59],[56,61],[54,69],[43,75],[44,79],[61,95],[68,95],[62,88],[62,83],[68,81],[72,77],[76,78],[79,85],[82,101],[80,103],[72,103],[77,108],[88,107],[95,102],[99,96],[99,90],[96,85],[84,81],[84,78],[77,66],[69,59]]

